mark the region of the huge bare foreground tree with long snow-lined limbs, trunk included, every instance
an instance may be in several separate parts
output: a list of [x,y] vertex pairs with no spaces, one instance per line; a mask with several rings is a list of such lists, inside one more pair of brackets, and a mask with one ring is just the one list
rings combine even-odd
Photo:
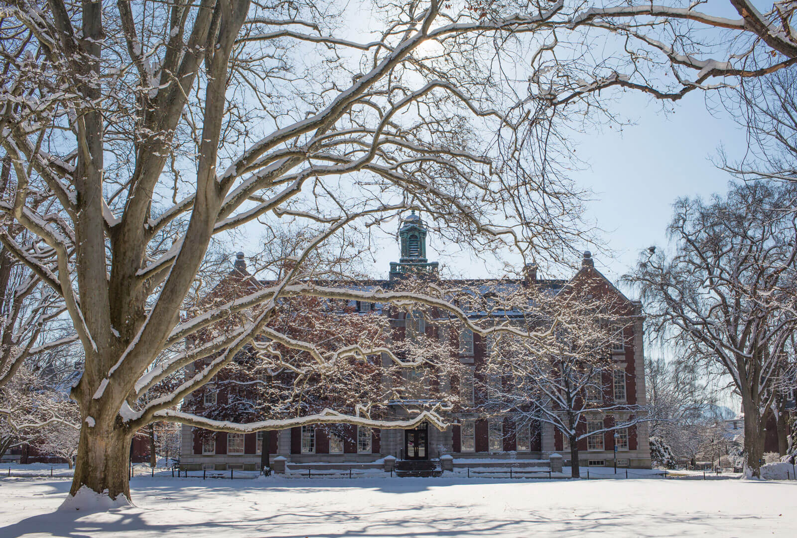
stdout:
[[[536,92],[524,101],[528,92],[519,98],[516,81],[491,64],[495,39],[510,34],[517,41],[502,49],[531,44],[540,52],[528,65],[556,63],[541,44],[565,25],[561,10],[540,2],[524,5],[528,14],[446,14],[436,0],[383,2],[383,26],[357,42],[336,37],[343,17],[314,2],[4,7],[0,138],[13,170],[0,208],[33,238],[4,242],[63,300],[85,355],[73,390],[82,429],[71,494],[86,486],[129,497],[129,440],[152,421],[406,426],[332,411],[230,426],[171,408],[252,344],[285,297],[415,301],[464,319],[434,296],[308,282],[312,253],[347,228],[367,234],[416,207],[484,249],[508,242],[528,256],[567,255],[582,232],[580,197],[549,155],[566,155],[557,122],[586,93],[556,107]],[[548,142],[535,153],[524,132]],[[320,233],[273,285],[191,311],[211,239],[277,218]],[[238,312],[237,328],[192,340]],[[186,339],[194,345],[169,351]],[[139,404],[198,359],[206,366],[174,391]]]

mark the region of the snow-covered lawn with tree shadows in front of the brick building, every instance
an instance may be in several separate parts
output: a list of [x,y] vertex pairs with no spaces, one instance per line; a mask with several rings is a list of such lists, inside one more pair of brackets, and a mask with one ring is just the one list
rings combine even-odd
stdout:
[[0,536],[795,536],[797,482],[135,477],[137,507],[57,511],[64,479],[0,479]]

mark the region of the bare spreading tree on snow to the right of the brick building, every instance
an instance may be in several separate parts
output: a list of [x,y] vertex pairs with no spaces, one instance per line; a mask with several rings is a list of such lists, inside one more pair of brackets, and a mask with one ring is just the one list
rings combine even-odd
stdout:
[[626,275],[652,332],[685,359],[728,375],[744,410],[745,472],[759,476],[764,418],[794,331],[795,191],[733,186],[727,198],[681,199],[669,226],[672,257],[649,249]]

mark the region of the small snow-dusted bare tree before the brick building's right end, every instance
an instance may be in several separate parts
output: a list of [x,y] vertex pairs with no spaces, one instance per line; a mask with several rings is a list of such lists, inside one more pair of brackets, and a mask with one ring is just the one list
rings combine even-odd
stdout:
[[516,427],[552,425],[570,451],[572,477],[580,477],[579,450],[603,450],[611,446],[606,438],[614,442],[614,433],[626,435],[620,442],[628,449],[626,429],[646,421],[648,413],[646,406],[626,401],[633,379],[614,363],[611,349],[631,340],[626,326],[637,315],[633,306],[591,265],[556,293],[529,285],[490,300],[493,306],[486,311],[512,318],[503,324],[553,337],[544,343],[509,333],[491,337],[489,363],[477,383],[486,395],[480,410],[508,414]]

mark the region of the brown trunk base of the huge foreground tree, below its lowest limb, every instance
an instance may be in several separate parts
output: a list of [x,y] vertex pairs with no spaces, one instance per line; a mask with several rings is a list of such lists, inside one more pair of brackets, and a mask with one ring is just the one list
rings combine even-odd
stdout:
[[129,459],[130,437],[126,430],[114,426],[100,427],[100,424],[90,427],[83,422],[70,497],[86,486],[117,503],[124,501],[117,498],[120,495],[129,501]]

